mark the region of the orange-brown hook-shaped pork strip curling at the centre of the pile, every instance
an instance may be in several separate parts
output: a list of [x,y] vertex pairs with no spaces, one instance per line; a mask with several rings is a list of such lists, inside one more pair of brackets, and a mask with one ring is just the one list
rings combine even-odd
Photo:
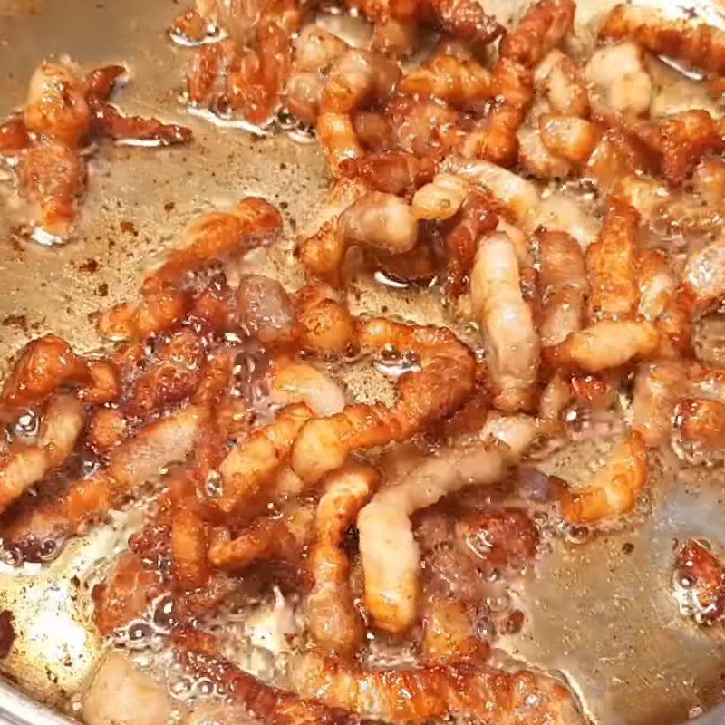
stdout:
[[308,484],[339,469],[357,449],[409,439],[449,416],[475,387],[473,356],[448,329],[376,318],[361,321],[358,333],[362,351],[417,353],[420,370],[397,379],[398,396],[390,408],[382,403],[348,405],[337,415],[304,426],[292,450],[292,468]]

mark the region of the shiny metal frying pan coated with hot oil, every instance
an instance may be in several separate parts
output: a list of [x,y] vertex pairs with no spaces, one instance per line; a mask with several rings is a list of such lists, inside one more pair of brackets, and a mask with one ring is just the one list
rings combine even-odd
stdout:
[[[498,0],[488,7],[507,21],[518,5]],[[580,21],[595,20],[609,5],[580,0]],[[190,52],[165,34],[181,9],[172,0],[0,0],[0,113],[23,102],[28,78],[44,56],[68,53],[86,67],[126,64],[130,77],[114,102],[130,113],[184,123],[195,133],[188,148],[104,144],[90,162],[77,238],[64,247],[41,247],[24,237],[25,210],[15,200],[13,174],[0,168],[0,360],[31,336],[50,332],[79,351],[97,350],[95,313],[134,295],[140,271],[173,244],[189,218],[247,194],[266,197],[283,211],[285,240],[266,265],[285,284],[302,284],[290,250],[295,228],[324,197],[322,155],[314,143],[218,128],[183,111],[179,92]],[[694,9],[721,22],[718,5]],[[587,40],[582,29],[575,43]],[[662,73],[663,103],[709,103],[691,82]],[[413,321],[446,323],[430,292],[356,284],[367,311],[387,307]],[[370,393],[354,371],[345,374],[353,391]],[[602,455],[600,442],[584,440],[540,465],[564,478],[587,475],[591,460]],[[672,598],[671,568],[677,541],[725,541],[722,472],[683,466],[668,455],[656,468],[640,525],[584,544],[552,537],[550,551],[515,593],[527,625],[501,646],[562,672],[601,725],[678,725],[699,715],[700,725],[720,725],[725,633],[682,619]],[[97,562],[128,538],[128,526],[120,518],[101,527],[50,565],[0,568],[0,609],[14,612],[17,632],[0,665],[6,678],[0,720],[67,722],[60,713],[69,711],[102,652],[91,623],[90,583]]]

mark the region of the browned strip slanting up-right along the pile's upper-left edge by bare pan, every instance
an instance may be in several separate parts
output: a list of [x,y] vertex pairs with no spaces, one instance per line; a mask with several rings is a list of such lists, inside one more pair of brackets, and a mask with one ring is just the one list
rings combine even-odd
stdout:
[[144,294],[174,285],[184,275],[230,252],[244,253],[281,227],[279,212],[265,199],[247,197],[227,212],[208,212],[184,230],[182,246],[143,281]]

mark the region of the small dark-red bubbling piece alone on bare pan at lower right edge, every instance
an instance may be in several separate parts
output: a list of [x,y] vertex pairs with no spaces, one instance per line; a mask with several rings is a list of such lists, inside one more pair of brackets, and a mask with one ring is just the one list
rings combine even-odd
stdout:
[[675,597],[695,622],[714,624],[725,616],[725,565],[697,539],[689,539],[674,559]]

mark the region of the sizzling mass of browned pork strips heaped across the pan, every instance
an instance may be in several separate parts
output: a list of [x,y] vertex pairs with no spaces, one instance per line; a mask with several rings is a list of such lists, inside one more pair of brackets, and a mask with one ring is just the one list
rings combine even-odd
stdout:
[[[725,445],[725,372],[691,345],[693,322],[725,296],[721,122],[653,116],[649,70],[662,54],[715,88],[720,34],[619,6],[580,63],[567,54],[575,5],[540,0],[491,64],[482,48],[503,29],[478,4],[354,9],[373,25],[370,48],[305,25],[287,0],[251,14],[200,3],[179,20],[176,34],[203,41],[191,102],[256,124],[284,102],[316,127],[334,186],[297,243],[306,283],[291,292],[224,274],[281,226],[266,201],[247,198],[193,221],[139,300],[102,315],[101,332],[119,341],[108,358],[53,337],[30,343],[2,396],[11,427],[40,421],[2,449],[6,547],[52,556],[152,485],[145,527],[94,592],[96,622],[112,633],[170,596],[181,661],[259,720],[582,723],[555,679],[486,664],[477,577],[454,574],[468,556],[505,572],[509,548],[529,541],[536,556],[537,535],[525,512],[492,498],[475,514],[465,507],[477,488],[515,485],[511,467],[529,447],[566,435],[565,411],[611,405],[630,376],[632,421],[608,461],[546,489],[567,524],[626,517],[653,449]],[[419,24],[444,35],[403,71]],[[206,36],[214,25],[218,39]],[[116,74],[92,74],[63,114],[30,104],[3,126],[3,148],[61,155],[94,123],[122,133],[103,107]],[[53,133],[36,141],[43,123]],[[575,179],[586,210],[539,183]],[[661,218],[685,254],[662,245]],[[710,236],[695,238],[703,228]],[[353,314],[359,259],[406,284],[434,280],[451,312],[477,325],[482,355],[452,329]],[[250,346],[265,361],[253,370]],[[391,401],[349,400],[325,364],[351,354],[410,362]],[[92,459],[91,475],[76,454]],[[453,543],[428,546],[434,530]],[[697,542],[677,561],[692,570],[701,621],[719,617],[719,562]],[[201,624],[255,576],[302,600],[287,689],[227,662]],[[419,647],[418,662],[379,671],[356,659],[381,632]]]

